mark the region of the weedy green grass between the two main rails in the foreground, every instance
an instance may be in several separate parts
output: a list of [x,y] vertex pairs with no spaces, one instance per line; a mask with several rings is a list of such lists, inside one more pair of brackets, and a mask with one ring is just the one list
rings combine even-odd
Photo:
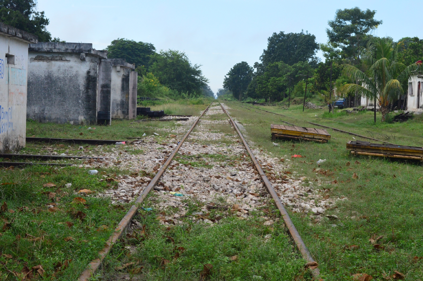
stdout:
[[[198,202],[184,202],[187,215],[199,210]],[[166,215],[171,214],[169,211]],[[209,280],[292,280],[294,275],[310,278],[310,273],[302,270],[303,261],[292,251],[283,223],[269,227],[258,217],[248,221],[232,217],[213,227],[190,220],[183,226],[165,226],[156,219],[157,212],[140,212],[136,219],[147,226],[144,238],[125,239],[121,247],[113,249],[102,268],[107,280],[120,279],[118,276],[125,273],[132,277],[137,267],[143,267],[143,274],[134,280],[198,280],[204,264],[213,265],[206,276]],[[207,216],[216,218],[217,214]],[[125,245],[132,245],[134,250]],[[115,259],[119,253],[125,255]],[[129,262],[136,265],[119,270]]]

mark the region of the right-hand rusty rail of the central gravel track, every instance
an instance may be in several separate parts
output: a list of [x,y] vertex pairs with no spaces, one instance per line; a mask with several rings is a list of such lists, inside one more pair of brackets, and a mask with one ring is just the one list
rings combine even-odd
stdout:
[[[254,166],[258,171],[258,174],[260,175],[261,179],[264,182],[264,185],[266,186],[267,191],[272,196],[273,200],[275,200],[275,204],[277,209],[280,211],[280,215],[282,215],[283,221],[286,224],[286,227],[288,228],[289,233],[291,234],[292,239],[294,240],[295,244],[297,245],[298,250],[301,252],[301,255],[303,259],[305,259],[307,262],[315,262],[313,257],[310,254],[310,251],[308,251],[307,247],[304,244],[304,241],[302,241],[301,237],[299,236],[299,233],[297,229],[294,226],[294,223],[292,222],[291,218],[288,215],[288,212],[286,212],[286,209],[283,207],[282,201],[280,201],[279,196],[277,196],[276,191],[272,187],[272,183],[270,183],[269,179],[267,179],[267,176],[264,174],[263,169],[261,168],[258,161],[255,159],[253,152],[250,149],[250,146],[248,146],[247,141],[245,141],[244,137],[242,136],[241,132],[238,129],[238,126],[236,126],[235,121],[233,121],[232,117],[229,115],[229,113],[225,110],[225,108],[220,104],[220,107],[222,107],[223,112],[225,112],[229,119],[231,120],[231,123],[233,127],[236,129],[236,132],[238,132],[239,137],[242,140],[242,143],[244,143],[245,148],[247,149],[248,154],[250,154],[251,160],[253,160]],[[319,275],[319,269],[316,268],[313,270],[313,275],[317,276]]]

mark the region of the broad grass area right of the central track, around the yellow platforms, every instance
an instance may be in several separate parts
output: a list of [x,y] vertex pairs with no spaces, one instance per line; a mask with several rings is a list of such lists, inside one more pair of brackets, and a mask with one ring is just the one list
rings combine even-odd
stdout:
[[[405,280],[421,280],[421,163],[351,156],[345,149],[345,143],[354,140],[352,136],[330,129],[328,132],[332,139],[329,143],[278,140],[276,142],[280,146],[275,147],[270,138],[270,124],[283,124],[283,120],[302,127],[314,126],[271,113],[246,110],[239,107],[237,102],[226,104],[232,108],[231,116],[242,124],[250,124],[244,127],[256,145],[275,157],[289,159],[293,154],[305,156],[293,158],[291,171],[298,171],[299,176],[306,176],[310,181],[317,177],[324,181],[336,179],[338,184],[325,186],[330,189],[330,196],[348,198],[347,201],[340,201],[336,209],[325,213],[337,215],[339,220],[324,218],[317,223],[310,214],[291,215],[305,244],[320,264],[321,278],[326,281],[351,280],[353,274],[367,273],[375,280],[385,280],[384,274],[392,276],[394,270],[398,270],[406,276]],[[292,106],[289,110],[261,108],[393,143],[423,146],[420,116],[405,123],[385,124],[380,122],[378,113],[378,122],[374,124],[372,112],[323,118],[322,110],[306,109],[303,113],[302,106]],[[318,167],[313,163],[319,159],[327,161]],[[334,174],[323,176],[316,174],[313,168],[322,168]],[[358,175],[358,179],[352,178],[353,173]],[[369,242],[369,238],[375,235],[383,235],[379,240],[379,249]]]

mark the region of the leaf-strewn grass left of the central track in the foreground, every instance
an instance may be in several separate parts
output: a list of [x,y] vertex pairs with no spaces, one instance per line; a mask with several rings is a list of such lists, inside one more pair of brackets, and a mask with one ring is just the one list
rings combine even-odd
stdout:
[[[0,170],[0,280],[16,280],[24,267],[40,264],[44,280],[77,279],[98,256],[116,218],[126,212],[126,206],[112,206],[107,198],[74,194],[84,188],[104,190],[107,183],[99,182],[99,176],[74,167]],[[45,187],[47,183],[55,186]],[[84,204],[75,203],[75,197],[82,197]],[[66,263],[69,266],[60,267]]]

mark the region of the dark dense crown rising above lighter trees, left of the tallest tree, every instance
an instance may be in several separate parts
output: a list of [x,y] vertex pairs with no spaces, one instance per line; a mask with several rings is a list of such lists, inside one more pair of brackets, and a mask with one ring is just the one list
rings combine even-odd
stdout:
[[317,61],[315,54],[319,50],[319,44],[316,43],[316,36],[307,31],[286,34],[283,31],[275,32],[267,41],[267,49],[263,50],[260,57],[264,66],[277,61],[288,65],[299,61]]

